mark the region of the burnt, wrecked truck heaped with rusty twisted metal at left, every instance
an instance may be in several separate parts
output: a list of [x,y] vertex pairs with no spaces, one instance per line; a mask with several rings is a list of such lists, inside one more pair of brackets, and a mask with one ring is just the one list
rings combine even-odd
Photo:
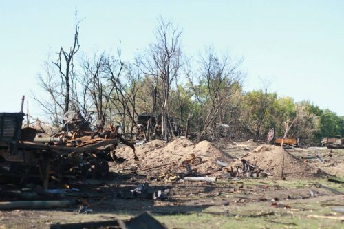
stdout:
[[40,183],[46,189],[54,185],[50,181],[61,186],[71,179],[105,177],[109,173],[107,162],[116,160],[120,142],[130,146],[138,160],[135,147],[121,137],[118,127],[83,131],[80,120],[71,118],[64,124],[67,130],[42,135],[31,127],[22,129],[23,117],[23,109],[19,113],[0,113],[1,183]]

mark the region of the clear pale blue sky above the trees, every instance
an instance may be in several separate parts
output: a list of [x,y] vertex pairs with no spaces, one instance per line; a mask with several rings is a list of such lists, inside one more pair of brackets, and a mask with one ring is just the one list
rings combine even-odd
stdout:
[[[0,1],[0,111],[19,111],[21,95],[33,116],[39,106],[30,90],[41,90],[36,75],[47,55],[69,47],[74,9],[80,49],[87,54],[122,54],[153,42],[160,15],[183,28],[182,47],[199,54],[204,46],[244,58],[246,91],[260,89],[310,100],[344,115],[344,1]],[[39,93],[39,92],[38,92]]]

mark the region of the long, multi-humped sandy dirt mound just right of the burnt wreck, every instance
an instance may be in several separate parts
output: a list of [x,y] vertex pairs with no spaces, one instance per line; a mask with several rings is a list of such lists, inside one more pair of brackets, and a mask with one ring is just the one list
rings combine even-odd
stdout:
[[215,164],[216,160],[228,162],[233,159],[233,157],[230,157],[213,146],[211,142],[202,141],[194,144],[185,138],[178,138],[177,140],[173,140],[173,142],[169,142],[169,144],[161,140],[154,140],[147,144],[136,146],[136,154],[140,158],[140,162],[138,163],[133,160],[133,152],[128,146],[122,146],[116,149],[116,156],[126,159],[122,164],[116,164],[116,168],[136,166],[138,171],[140,171],[161,166],[156,169],[149,169],[149,171],[166,171],[167,168],[171,168],[174,171],[184,171],[185,168],[180,168],[182,162],[189,160],[194,155],[197,157],[197,163],[191,168],[196,168],[200,175],[208,175],[215,168],[218,168]]

